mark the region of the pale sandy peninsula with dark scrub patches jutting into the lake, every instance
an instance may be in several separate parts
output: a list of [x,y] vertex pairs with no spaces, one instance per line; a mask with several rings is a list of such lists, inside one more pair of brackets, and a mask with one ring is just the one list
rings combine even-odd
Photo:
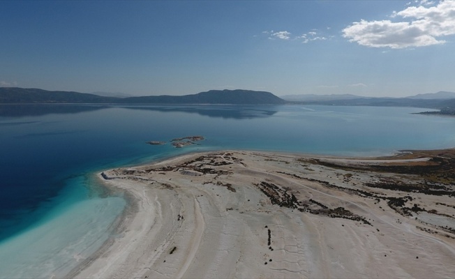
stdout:
[[455,151],[217,151],[110,169],[130,207],[73,278],[453,278]]

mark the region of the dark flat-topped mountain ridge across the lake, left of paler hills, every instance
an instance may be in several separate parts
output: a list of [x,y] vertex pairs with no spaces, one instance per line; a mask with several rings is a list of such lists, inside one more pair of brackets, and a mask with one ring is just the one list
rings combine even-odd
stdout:
[[285,100],[265,91],[211,90],[185,96],[105,97],[73,91],[0,87],[0,103],[232,104],[281,105]]

